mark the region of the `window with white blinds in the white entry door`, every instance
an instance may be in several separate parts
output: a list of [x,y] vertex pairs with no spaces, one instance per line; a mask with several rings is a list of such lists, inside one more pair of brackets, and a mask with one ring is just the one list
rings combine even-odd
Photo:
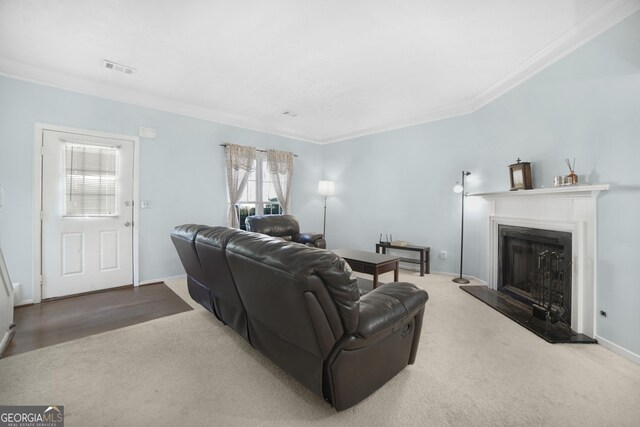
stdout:
[[118,147],[64,146],[64,216],[118,216]]

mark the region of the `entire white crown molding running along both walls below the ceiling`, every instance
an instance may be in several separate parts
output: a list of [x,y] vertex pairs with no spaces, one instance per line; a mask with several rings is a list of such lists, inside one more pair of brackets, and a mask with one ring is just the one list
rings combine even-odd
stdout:
[[247,120],[222,111],[97,83],[4,58],[0,58],[0,75],[299,141],[329,144],[472,113],[522,84],[544,68],[565,57],[638,10],[640,10],[639,0],[611,0],[594,15],[585,21],[579,22],[507,76],[475,97],[458,104],[424,111],[413,117],[405,117],[382,125],[356,129],[329,137],[302,135],[290,129]]

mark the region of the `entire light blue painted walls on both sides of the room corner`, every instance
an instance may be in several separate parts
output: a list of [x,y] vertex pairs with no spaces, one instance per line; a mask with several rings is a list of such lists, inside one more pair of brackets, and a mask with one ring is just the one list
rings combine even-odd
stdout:
[[[0,183],[5,207],[0,244],[14,282],[31,297],[34,123],[136,135],[142,140],[141,280],[182,273],[168,239],[180,223],[222,224],[223,151],[230,141],[295,151],[293,213],[322,227],[319,179],[336,181],[328,200],[330,247],[373,250],[379,233],[432,248],[433,271],[455,273],[459,257],[460,172],[467,190],[508,188],[507,165],[533,163],[534,183],[550,186],[576,157],[582,181],[609,183],[599,199],[597,309],[603,338],[640,354],[640,13],[464,117],[315,146],[232,126],[159,112],[0,77]],[[324,165],[324,167],[323,167]],[[485,205],[467,199],[465,274],[486,278]],[[447,250],[446,260],[438,252]]]

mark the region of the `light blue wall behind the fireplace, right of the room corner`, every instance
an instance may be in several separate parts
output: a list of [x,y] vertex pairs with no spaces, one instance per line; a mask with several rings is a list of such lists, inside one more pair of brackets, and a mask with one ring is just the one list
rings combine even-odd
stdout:
[[[576,158],[581,182],[608,183],[598,201],[598,334],[640,355],[640,13],[479,111],[331,144],[326,175],[332,247],[372,250],[379,233],[431,246],[434,271],[455,273],[460,196],[509,187],[507,165],[532,162],[552,186]],[[486,205],[468,198],[465,274],[486,279]],[[449,258],[438,258],[445,249]]]

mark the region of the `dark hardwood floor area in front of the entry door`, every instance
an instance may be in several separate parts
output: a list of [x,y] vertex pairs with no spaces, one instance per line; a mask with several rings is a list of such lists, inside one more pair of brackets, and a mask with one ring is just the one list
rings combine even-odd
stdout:
[[2,357],[192,310],[164,283],[45,301],[14,311],[15,335]]

